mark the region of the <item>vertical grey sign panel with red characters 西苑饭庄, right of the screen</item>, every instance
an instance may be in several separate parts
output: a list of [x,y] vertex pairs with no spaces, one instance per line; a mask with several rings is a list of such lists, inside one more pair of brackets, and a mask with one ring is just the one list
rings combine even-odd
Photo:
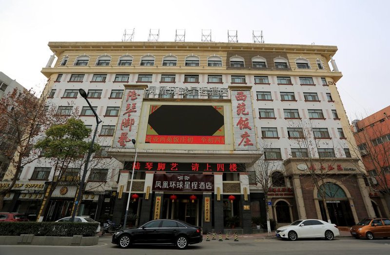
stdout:
[[250,90],[232,90],[234,149],[257,150]]

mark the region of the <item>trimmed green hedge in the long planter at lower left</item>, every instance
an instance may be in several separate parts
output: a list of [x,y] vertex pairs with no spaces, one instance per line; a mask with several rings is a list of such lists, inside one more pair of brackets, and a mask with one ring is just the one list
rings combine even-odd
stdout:
[[0,222],[0,235],[95,236],[98,222]]

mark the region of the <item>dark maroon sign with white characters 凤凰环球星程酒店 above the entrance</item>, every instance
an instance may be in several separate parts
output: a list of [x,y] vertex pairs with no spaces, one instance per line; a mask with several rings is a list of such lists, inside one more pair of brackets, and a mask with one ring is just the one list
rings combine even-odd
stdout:
[[214,175],[154,175],[154,191],[214,191]]

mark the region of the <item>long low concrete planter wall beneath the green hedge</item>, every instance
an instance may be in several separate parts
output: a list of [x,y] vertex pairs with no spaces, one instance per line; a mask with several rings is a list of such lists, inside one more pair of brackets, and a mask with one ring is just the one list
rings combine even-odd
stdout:
[[98,244],[98,236],[35,236],[35,235],[1,235],[0,245],[59,245],[89,246]]

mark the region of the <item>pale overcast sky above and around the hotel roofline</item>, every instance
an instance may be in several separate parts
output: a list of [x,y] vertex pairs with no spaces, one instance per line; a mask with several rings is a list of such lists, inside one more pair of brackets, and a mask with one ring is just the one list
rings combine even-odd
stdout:
[[350,121],[390,103],[388,0],[0,0],[0,71],[26,88],[41,90],[40,73],[52,52],[49,41],[120,41],[135,28],[135,41],[160,29],[160,41],[252,42],[263,30],[266,43],[336,45],[343,73],[337,87]]

